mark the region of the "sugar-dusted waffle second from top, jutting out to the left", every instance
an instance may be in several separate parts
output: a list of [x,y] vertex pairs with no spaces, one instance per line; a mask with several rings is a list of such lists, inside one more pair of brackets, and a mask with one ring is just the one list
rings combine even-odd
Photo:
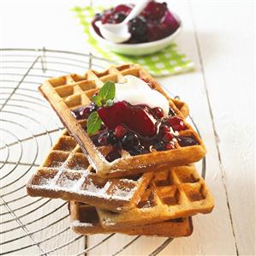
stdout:
[[128,211],[138,202],[152,175],[110,180],[97,176],[74,138],[65,131],[27,183],[27,193],[76,200],[111,211]]

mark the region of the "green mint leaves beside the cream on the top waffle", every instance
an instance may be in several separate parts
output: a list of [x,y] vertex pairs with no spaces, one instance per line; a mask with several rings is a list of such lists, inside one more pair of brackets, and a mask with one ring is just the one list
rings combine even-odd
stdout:
[[[98,95],[92,96],[92,102],[98,107],[110,107],[114,104],[113,99],[116,94],[116,86],[113,82],[106,82],[98,92]],[[93,111],[87,119],[87,134],[96,134],[101,127],[102,120],[97,111]]]

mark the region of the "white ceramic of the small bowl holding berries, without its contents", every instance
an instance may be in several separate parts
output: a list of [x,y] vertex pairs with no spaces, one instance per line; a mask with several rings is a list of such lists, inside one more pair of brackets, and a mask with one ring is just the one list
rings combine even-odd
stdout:
[[113,42],[110,42],[106,39],[103,39],[98,35],[98,33],[95,32],[92,25],[90,26],[90,33],[92,34],[92,37],[98,41],[98,43],[108,49],[110,51],[115,51],[117,53],[121,53],[124,55],[133,55],[133,56],[141,56],[146,54],[151,54],[156,51],[160,51],[164,49],[166,46],[170,45],[173,39],[176,38],[177,34],[181,32],[182,30],[182,21],[180,18],[173,14],[175,16],[176,20],[180,23],[180,27],[176,30],[175,33],[172,33],[170,36],[160,39],[157,41],[149,42],[149,43],[141,43],[141,44],[116,44]]

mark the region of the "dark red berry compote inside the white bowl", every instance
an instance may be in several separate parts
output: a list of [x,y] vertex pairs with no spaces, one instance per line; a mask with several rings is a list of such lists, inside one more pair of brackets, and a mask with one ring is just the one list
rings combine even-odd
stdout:
[[[121,23],[133,7],[133,4],[120,4],[116,8],[104,10],[102,14],[94,16],[92,27],[102,37],[95,24],[96,21],[101,21],[103,24]],[[180,24],[176,21],[174,15],[170,13],[167,3],[151,1],[140,15],[128,22],[128,31],[132,37],[125,43],[138,44],[164,39],[170,34],[175,33],[178,27],[180,27]]]

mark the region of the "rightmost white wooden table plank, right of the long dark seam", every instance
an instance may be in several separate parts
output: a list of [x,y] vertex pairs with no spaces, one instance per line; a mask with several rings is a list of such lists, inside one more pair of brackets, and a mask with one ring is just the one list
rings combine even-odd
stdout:
[[253,1],[192,3],[236,248],[250,255],[255,253]]

